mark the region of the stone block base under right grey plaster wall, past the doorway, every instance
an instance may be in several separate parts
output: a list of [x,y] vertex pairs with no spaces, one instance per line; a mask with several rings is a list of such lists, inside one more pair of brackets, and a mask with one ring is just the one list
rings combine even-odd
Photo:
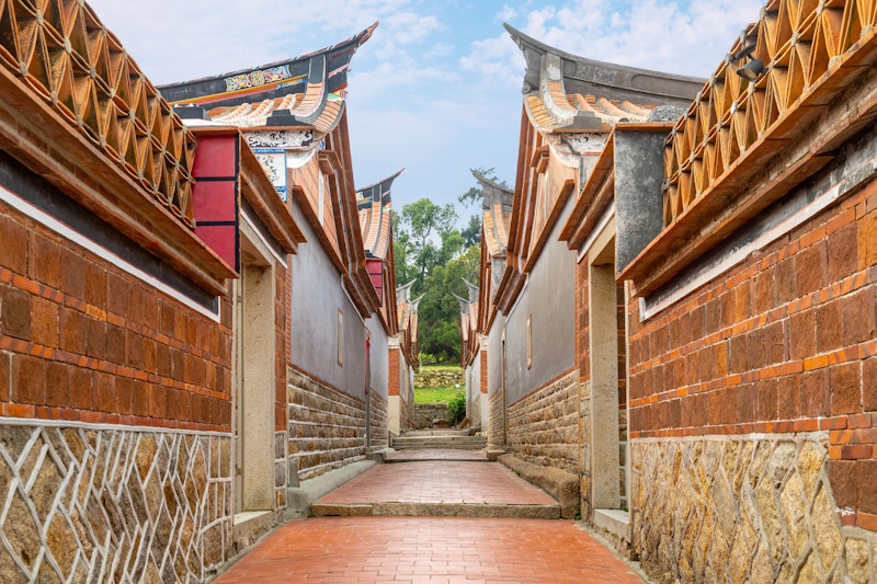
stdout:
[[569,371],[509,405],[509,446],[519,458],[579,472],[579,371]]

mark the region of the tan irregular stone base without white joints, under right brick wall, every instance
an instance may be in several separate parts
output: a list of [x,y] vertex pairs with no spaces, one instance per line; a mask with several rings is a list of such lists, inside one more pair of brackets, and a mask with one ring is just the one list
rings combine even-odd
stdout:
[[647,438],[631,453],[634,540],[656,580],[877,577],[873,534],[835,512],[827,432]]

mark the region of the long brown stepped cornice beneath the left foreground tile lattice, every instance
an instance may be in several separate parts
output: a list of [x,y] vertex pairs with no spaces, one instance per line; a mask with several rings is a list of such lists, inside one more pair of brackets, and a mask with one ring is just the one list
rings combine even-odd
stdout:
[[169,209],[1,67],[0,147],[205,291],[221,296],[226,280],[237,277]]

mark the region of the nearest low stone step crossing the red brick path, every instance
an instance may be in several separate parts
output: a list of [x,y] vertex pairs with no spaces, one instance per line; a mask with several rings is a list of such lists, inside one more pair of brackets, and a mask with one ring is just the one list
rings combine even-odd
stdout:
[[508,517],[559,519],[560,504],[512,505],[505,503],[314,503],[312,517]]

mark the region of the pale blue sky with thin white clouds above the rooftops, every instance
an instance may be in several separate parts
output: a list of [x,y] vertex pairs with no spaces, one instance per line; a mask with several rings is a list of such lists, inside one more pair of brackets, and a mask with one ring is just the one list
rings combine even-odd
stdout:
[[[510,185],[524,60],[503,22],[584,57],[708,77],[760,0],[90,0],[156,84],[310,53],[380,21],[356,53],[348,119],[357,186],[405,167],[394,206],[457,204],[469,168]],[[133,15],[136,14],[136,15]],[[475,209],[459,208],[464,220]]]

